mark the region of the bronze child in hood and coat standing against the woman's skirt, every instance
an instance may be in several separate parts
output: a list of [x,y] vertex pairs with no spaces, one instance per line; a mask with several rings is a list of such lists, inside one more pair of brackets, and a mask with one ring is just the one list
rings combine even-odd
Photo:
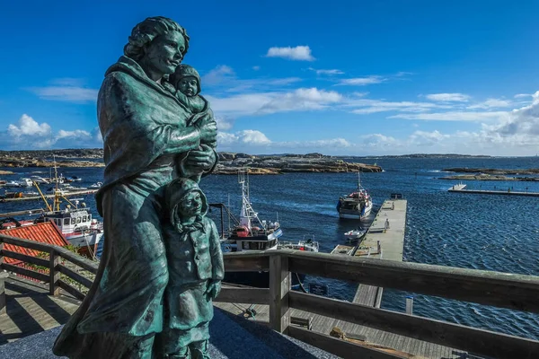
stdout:
[[206,217],[208,202],[194,180],[172,180],[165,190],[170,223],[163,229],[169,282],[164,293],[163,355],[209,358],[212,299],[225,276],[216,224]]

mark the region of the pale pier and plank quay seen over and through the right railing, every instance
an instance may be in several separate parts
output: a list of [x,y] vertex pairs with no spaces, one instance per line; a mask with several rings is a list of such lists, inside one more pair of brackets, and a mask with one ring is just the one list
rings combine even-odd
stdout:
[[[342,258],[343,261],[347,258],[377,258],[402,262],[407,203],[406,199],[385,200],[365,237],[356,245],[338,244],[331,251],[331,257]],[[230,288],[234,289],[234,286]],[[383,293],[384,287],[360,284],[352,303],[380,308]],[[269,305],[256,302],[216,302],[215,305],[236,316],[270,325]],[[308,311],[292,309],[290,318],[293,325],[311,328],[325,335],[335,335],[340,330],[352,341],[383,349],[394,355],[416,355],[414,358],[453,358],[455,355],[466,355],[449,346],[440,346]]]

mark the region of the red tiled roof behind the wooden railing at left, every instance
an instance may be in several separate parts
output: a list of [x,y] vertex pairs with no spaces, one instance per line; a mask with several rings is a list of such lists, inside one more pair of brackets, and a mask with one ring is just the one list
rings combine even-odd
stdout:
[[[61,247],[68,244],[66,239],[62,236],[62,233],[58,230],[56,224],[52,222],[22,225],[21,227],[0,230],[0,234],[30,241],[39,241],[40,243],[54,244]],[[4,250],[11,250],[31,257],[36,257],[39,253],[39,250],[29,250],[28,248],[13,246],[13,244],[6,243],[4,243]],[[22,261],[4,257],[4,263],[17,265],[22,263]]]

